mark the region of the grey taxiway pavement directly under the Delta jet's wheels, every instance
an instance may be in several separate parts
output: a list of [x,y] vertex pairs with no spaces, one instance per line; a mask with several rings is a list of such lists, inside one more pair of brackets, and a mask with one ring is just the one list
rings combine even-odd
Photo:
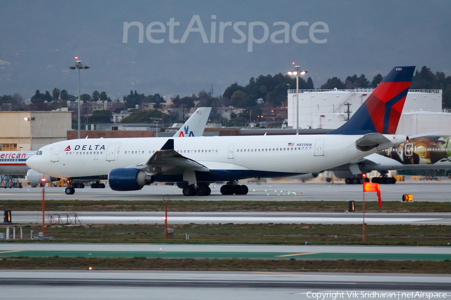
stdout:
[[[212,183],[211,195],[206,197],[183,196],[181,189],[175,185],[149,185],[137,191],[113,191],[106,188],[76,189],[75,194],[66,195],[63,187],[46,187],[48,200],[162,200],[163,194],[169,194],[171,200],[328,200],[328,201],[361,201],[362,185],[344,184],[342,181],[335,183],[247,183],[249,193],[247,195],[222,195],[220,186],[222,183]],[[451,194],[451,180],[420,181],[408,180],[396,184],[381,184],[382,201],[400,201],[403,194],[412,194],[414,201],[448,202]],[[42,188],[0,188],[0,199],[3,200],[39,200],[42,199]],[[373,193],[365,195],[365,201],[377,201]]]

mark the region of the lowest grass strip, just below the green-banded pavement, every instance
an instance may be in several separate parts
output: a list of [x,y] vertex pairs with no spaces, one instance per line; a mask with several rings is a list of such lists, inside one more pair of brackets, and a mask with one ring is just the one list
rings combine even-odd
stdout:
[[198,270],[449,274],[451,262],[389,260],[162,259],[97,257],[14,257],[0,259],[0,269]]

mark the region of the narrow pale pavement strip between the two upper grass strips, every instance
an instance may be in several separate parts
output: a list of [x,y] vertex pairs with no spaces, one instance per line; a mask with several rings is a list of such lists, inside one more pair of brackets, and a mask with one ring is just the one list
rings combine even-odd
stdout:
[[[62,213],[49,211],[46,214]],[[78,211],[84,224],[164,223],[164,211]],[[13,211],[15,223],[42,223],[42,211]],[[47,221],[49,222],[48,218]],[[362,213],[355,212],[177,212],[168,211],[168,223],[308,223],[360,224]],[[451,225],[451,213],[365,213],[367,224],[441,224]]]

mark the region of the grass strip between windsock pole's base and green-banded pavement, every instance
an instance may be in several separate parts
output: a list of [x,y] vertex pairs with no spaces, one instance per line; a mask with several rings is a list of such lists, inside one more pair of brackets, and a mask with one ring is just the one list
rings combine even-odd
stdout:
[[[0,225],[5,228],[7,225]],[[169,224],[173,238],[164,238],[164,224],[90,224],[47,227],[51,240],[31,240],[30,230],[39,224],[21,225],[24,239],[4,242],[130,242],[191,244],[337,244],[337,245],[422,245],[450,246],[451,226],[387,224],[366,225],[362,241],[361,224]],[[10,225],[11,227],[11,225]],[[12,232],[12,228],[10,228]],[[19,230],[16,229],[16,234]],[[189,239],[185,239],[185,233]],[[11,234],[11,233],[10,233]],[[10,236],[11,238],[11,236]]]

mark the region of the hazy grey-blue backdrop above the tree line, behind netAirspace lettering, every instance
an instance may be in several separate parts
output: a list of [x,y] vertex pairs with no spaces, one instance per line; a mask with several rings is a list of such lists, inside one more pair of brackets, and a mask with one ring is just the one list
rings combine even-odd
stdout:
[[[220,95],[234,82],[286,73],[293,61],[315,87],[354,73],[371,81],[397,65],[448,76],[450,15],[449,0],[1,0],[0,94],[77,94],[75,56],[91,67],[81,92],[112,98],[131,89],[183,96],[210,84]],[[142,24],[142,42],[136,25],[125,25],[124,42],[124,22]]]

